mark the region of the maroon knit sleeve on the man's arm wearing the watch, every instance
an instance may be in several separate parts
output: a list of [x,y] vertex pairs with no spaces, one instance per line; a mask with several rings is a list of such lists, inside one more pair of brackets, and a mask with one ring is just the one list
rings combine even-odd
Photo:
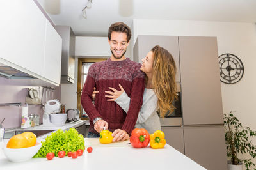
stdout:
[[102,117],[92,103],[92,93],[95,87],[95,67],[90,66],[86,82],[84,83],[83,92],[81,95],[81,104],[84,111],[89,116],[90,120],[94,120],[97,117]]

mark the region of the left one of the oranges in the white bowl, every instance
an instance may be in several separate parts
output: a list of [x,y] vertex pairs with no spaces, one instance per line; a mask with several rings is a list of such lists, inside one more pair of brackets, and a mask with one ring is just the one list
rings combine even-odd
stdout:
[[28,144],[28,139],[24,135],[13,135],[8,141],[6,148],[26,148]]

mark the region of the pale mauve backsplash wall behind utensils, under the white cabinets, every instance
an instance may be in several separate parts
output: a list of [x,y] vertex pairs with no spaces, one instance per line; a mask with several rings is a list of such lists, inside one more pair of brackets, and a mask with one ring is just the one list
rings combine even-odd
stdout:
[[[28,96],[28,89],[34,88],[38,92],[42,91],[40,86],[28,86],[28,79],[5,79],[0,77],[0,104],[1,103],[16,103],[21,102],[22,107],[25,106],[25,99]],[[47,92],[47,100],[61,98],[61,87],[54,87],[54,91]],[[44,89],[44,95],[42,98],[42,103],[46,100],[46,90]],[[3,122],[4,128],[20,127],[21,123],[21,108],[17,106],[2,106],[0,107],[0,121],[5,118]],[[42,122],[42,115],[44,111],[41,105],[29,104],[28,114],[38,114],[40,116],[40,123]]]

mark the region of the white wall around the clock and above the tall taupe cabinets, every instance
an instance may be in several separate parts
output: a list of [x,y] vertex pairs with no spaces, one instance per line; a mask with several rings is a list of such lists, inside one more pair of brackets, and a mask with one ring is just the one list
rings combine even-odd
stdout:
[[[244,64],[241,81],[233,85],[221,82],[223,113],[237,111],[236,116],[241,123],[256,130],[255,28],[255,24],[236,22],[134,20],[133,42],[136,42],[138,35],[216,36],[219,56],[232,53]],[[256,139],[253,139],[253,143],[256,143]]]

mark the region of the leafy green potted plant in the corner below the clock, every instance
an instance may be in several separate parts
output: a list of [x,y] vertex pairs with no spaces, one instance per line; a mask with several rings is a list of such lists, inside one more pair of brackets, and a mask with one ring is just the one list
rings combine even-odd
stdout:
[[224,128],[227,157],[230,158],[228,168],[243,169],[242,164],[244,164],[247,170],[255,167],[250,158],[240,159],[237,155],[239,153],[249,153],[252,158],[256,157],[256,146],[249,139],[249,137],[256,136],[256,132],[252,131],[249,127],[243,127],[232,111],[229,114],[224,114]]

